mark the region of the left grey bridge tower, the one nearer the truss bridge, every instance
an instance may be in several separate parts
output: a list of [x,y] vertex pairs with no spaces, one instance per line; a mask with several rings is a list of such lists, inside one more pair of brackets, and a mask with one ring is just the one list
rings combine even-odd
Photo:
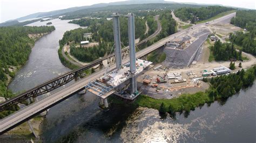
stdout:
[[113,13],[112,17],[114,31],[114,46],[116,48],[116,66],[117,69],[119,69],[122,65],[119,15],[117,13]]

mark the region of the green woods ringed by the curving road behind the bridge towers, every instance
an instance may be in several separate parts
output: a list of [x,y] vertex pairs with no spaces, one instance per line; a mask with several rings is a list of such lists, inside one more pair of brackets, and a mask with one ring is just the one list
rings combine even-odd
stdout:
[[[78,28],[65,32],[64,37],[60,40],[60,44],[64,45],[68,41],[75,41],[75,44],[79,44],[80,41],[86,40],[83,38],[83,34],[87,32],[92,33],[92,41],[99,42],[98,46],[93,47],[75,47],[71,45],[70,53],[78,60],[83,62],[91,62],[99,57],[109,54],[114,43],[113,36],[113,22],[112,20],[101,19],[88,19],[83,18],[80,20],[73,20],[70,23],[79,24],[80,26],[89,26],[88,28]],[[135,38],[139,38],[146,31],[145,20],[142,18],[135,18]],[[120,37],[123,43],[122,46],[129,45],[128,43],[128,25],[127,18],[120,17]]]

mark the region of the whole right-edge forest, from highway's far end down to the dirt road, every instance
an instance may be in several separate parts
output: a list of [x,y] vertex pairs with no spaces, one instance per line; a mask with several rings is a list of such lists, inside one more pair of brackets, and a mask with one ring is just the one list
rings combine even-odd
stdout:
[[256,55],[256,10],[237,11],[237,15],[231,19],[231,24],[246,28],[246,33],[235,32],[230,34],[230,41],[242,47],[242,51]]

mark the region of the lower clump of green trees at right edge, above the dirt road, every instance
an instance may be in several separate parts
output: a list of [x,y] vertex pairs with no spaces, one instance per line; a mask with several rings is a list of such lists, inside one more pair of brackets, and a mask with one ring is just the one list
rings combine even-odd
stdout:
[[235,32],[234,34],[230,34],[230,41],[234,42],[242,47],[242,51],[246,53],[256,55],[256,40],[255,32],[252,31],[250,33],[243,33],[243,32]]

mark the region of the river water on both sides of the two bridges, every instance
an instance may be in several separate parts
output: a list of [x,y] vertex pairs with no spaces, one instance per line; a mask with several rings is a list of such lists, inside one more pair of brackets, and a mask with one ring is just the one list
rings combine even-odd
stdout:
[[[69,71],[58,59],[58,40],[67,30],[78,28],[58,19],[56,30],[38,40],[30,59],[19,70],[9,88],[22,91]],[[47,23],[47,22],[45,22]],[[42,25],[45,23],[33,23]],[[74,95],[53,106],[42,125],[44,142],[255,142],[256,85],[241,90],[225,103],[214,102],[191,111],[177,113],[176,120],[160,118],[157,110],[131,105],[98,107],[91,94]]]

